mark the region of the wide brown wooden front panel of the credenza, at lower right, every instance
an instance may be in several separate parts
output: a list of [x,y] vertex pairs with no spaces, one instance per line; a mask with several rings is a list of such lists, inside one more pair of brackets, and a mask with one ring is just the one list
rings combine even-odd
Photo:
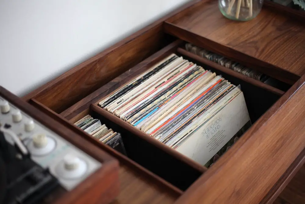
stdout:
[[305,148],[305,76],[178,199],[257,204]]

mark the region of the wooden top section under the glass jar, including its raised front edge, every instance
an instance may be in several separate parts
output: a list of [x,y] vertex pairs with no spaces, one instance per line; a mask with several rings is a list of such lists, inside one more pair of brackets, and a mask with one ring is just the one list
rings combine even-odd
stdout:
[[302,22],[268,7],[263,7],[253,20],[236,22],[225,18],[217,4],[208,1],[188,9],[183,16],[173,16],[166,21],[164,29],[290,84],[305,73]]

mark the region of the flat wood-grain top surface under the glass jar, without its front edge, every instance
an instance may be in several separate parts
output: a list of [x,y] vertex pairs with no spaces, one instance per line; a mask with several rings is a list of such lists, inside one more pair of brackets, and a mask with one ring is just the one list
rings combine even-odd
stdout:
[[298,76],[305,73],[304,24],[267,6],[253,20],[232,21],[217,4],[207,1],[167,22]]

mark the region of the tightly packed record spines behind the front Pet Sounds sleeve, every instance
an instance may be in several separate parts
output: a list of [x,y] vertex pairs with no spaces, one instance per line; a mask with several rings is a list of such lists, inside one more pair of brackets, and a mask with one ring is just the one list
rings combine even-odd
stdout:
[[[171,54],[103,99],[99,106],[167,146],[179,149],[241,93],[239,87],[221,76]],[[215,148],[213,155],[225,143]]]

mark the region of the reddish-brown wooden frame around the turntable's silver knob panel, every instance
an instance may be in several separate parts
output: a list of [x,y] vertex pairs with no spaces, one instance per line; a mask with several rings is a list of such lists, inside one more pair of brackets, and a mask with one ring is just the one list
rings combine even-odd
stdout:
[[77,132],[39,111],[29,103],[24,102],[21,98],[13,95],[1,86],[0,95],[30,117],[39,121],[42,125],[45,125],[63,139],[66,139],[75,147],[102,163],[101,168],[97,169],[72,191],[60,196],[55,204],[106,204],[118,195],[119,162],[116,159],[82,138]]

